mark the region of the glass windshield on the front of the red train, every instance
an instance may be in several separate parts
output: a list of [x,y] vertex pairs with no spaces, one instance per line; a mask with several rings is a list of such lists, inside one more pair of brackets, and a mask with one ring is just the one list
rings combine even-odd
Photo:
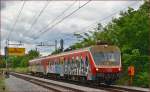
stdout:
[[119,65],[119,52],[95,52],[92,53],[96,65]]

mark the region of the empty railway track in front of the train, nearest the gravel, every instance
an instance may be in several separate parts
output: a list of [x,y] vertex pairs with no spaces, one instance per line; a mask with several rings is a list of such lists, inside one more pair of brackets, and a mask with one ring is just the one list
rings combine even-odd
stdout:
[[17,78],[21,78],[23,80],[32,82],[34,84],[43,86],[47,89],[53,90],[54,92],[86,92],[86,91],[89,91],[89,92],[107,92],[105,90],[88,88],[88,87],[81,87],[81,86],[74,85],[74,84],[57,82],[57,81],[33,77],[30,75],[25,75],[25,74],[18,74],[18,73],[10,73],[10,74],[12,76],[17,77]]

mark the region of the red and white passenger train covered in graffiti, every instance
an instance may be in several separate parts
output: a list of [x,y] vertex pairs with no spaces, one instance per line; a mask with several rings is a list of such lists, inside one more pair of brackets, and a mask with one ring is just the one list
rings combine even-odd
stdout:
[[110,84],[119,78],[121,53],[112,45],[63,52],[29,61],[32,74]]

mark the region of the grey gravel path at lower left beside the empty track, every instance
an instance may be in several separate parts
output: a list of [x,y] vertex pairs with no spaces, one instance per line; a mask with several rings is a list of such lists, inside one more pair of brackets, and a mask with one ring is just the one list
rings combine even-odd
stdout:
[[14,76],[10,76],[10,78],[6,79],[5,85],[9,92],[53,92],[52,90],[48,90]]

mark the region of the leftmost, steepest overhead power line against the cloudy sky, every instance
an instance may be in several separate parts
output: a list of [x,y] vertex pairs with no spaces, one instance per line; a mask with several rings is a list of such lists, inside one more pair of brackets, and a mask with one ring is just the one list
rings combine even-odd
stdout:
[[14,31],[14,28],[15,28],[15,26],[16,26],[16,24],[18,22],[18,19],[19,19],[20,15],[21,15],[21,12],[22,12],[22,10],[24,8],[24,5],[25,5],[25,1],[23,1],[23,4],[22,4],[22,6],[21,6],[21,8],[19,10],[19,13],[18,13],[17,17],[16,17],[16,20],[15,20],[14,24],[12,25],[12,28],[11,28],[9,34],[8,34],[8,37],[7,37],[8,40],[10,38],[11,33]]

